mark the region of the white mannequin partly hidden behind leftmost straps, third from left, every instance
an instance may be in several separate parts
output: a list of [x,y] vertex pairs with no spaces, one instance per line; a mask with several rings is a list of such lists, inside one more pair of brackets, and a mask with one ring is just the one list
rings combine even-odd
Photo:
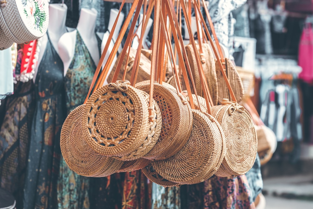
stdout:
[[[115,20],[117,18],[118,12],[119,12],[119,10],[117,10],[117,9],[111,9],[111,11],[110,11],[110,20],[109,20],[109,25],[108,25],[109,31],[112,30],[112,27],[113,27],[114,22],[115,22]],[[117,24],[116,24],[116,27],[115,27],[115,30],[114,30],[114,33],[113,33],[112,40],[110,42],[110,46],[109,46],[108,51],[107,51],[107,53],[105,55],[105,58],[104,58],[104,61],[103,61],[103,64],[102,64],[102,69],[104,68],[105,63],[107,62],[107,60],[109,58],[109,55],[110,55],[111,51],[113,50],[114,43],[115,43],[115,41],[116,41],[116,39],[118,37],[118,34],[120,33],[120,29],[121,29],[121,25],[123,24],[123,20],[124,20],[124,14],[121,13],[120,17],[119,17],[119,19],[117,21]],[[108,41],[108,38],[109,38],[109,35],[110,35],[109,31],[105,32],[105,34],[103,36],[102,43],[101,43],[101,52],[104,50],[105,44]],[[112,68],[113,68],[114,63],[115,63],[116,60],[117,60],[117,56],[115,55],[114,60],[112,62],[112,65],[110,66],[110,70],[109,70],[108,75],[110,75],[110,72],[112,71]],[[104,85],[106,85],[106,84],[108,84],[108,82],[105,80]]]

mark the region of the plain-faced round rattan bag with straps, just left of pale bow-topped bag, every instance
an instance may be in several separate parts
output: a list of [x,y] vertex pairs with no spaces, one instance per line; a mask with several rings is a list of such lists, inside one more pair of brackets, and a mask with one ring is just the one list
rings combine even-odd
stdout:
[[[173,15],[175,13],[172,2],[166,1],[167,11],[171,11],[169,13],[170,24],[172,28],[174,24],[177,23],[176,17]],[[184,15],[186,14],[186,8],[183,5]],[[162,15],[161,19],[163,21]],[[174,21],[176,23],[174,23]],[[164,23],[164,22],[162,22]],[[166,33],[166,29],[164,27],[165,24],[161,25],[163,33],[167,34],[167,48],[171,49],[169,42],[169,34]],[[187,27],[190,30],[190,24],[187,23]],[[177,33],[177,31],[173,32],[175,44],[178,44],[178,41],[182,43],[181,34]],[[178,34],[179,40],[176,37]],[[194,52],[197,52],[196,44],[191,38],[192,47]],[[171,53],[172,54],[172,53]],[[184,56],[185,60],[187,60],[186,50],[182,49],[182,54],[178,52],[180,62],[183,61],[182,56]],[[197,53],[197,66],[201,68],[200,58]],[[190,104],[193,107],[192,115],[193,115],[193,124],[192,124],[192,132],[187,140],[187,143],[180,149],[176,154],[171,156],[170,158],[164,160],[156,160],[152,161],[151,165],[155,172],[165,178],[166,180],[177,182],[179,184],[196,184],[199,182],[203,182],[204,180],[211,177],[219,168],[222,163],[225,154],[225,136],[223,134],[222,127],[219,123],[208,113],[203,113],[200,110],[196,110],[194,107],[193,97],[191,97],[191,90],[189,81],[187,78],[187,71],[184,65],[182,66],[182,73],[184,78],[187,80],[187,94],[190,95]],[[190,75],[191,69],[189,64],[187,63],[187,69]],[[203,71],[203,69],[201,69]],[[174,76],[177,76],[177,73],[174,73]],[[202,81],[206,82],[202,74]],[[176,78],[175,78],[176,79]],[[193,80],[191,78],[191,80]],[[205,81],[204,81],[205,80]],[[194,82],[192,81],[192,86],[194,86]],[[206,86],[207,87],[207,86]],[[207,87],[208,88],[208,87]],[[208,92],[208,90],[206,90]],[[210,112],[210,108],[208,110]]]

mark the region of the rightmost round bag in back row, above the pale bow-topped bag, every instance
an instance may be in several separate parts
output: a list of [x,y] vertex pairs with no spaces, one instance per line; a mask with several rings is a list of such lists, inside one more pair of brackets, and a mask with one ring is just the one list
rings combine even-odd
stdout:
[[[226,60],[226,75],[227,75],[229,84],[233,89],[237,102],[240,102],[244,97],[244,86],[242,84],[242,81],[233,63],[227,58],[225,58],[225,60]],[[215,66],[216,66],[216,76],[217,76],[217,81],[218,81],[218,103],[221,104],[224,98],[228,100],[232,100],[232,98],[230,97],[229,90],[226,85],[226,81],[222,75],[222,72],[217,62],[218,61],[216,60]]]

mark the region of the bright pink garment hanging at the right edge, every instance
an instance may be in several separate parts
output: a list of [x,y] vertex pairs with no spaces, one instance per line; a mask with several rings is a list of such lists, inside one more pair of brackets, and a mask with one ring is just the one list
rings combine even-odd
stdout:
[[313,31],[311,24],[307,24],[302,31],[298,60],[299,66],[302,67],[299,78],[311,83],[313,81]]

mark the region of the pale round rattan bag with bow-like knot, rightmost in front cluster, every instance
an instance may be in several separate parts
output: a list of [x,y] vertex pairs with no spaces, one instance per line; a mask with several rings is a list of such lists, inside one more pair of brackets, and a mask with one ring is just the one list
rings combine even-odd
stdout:
[[224,99],[222,105],[211,109],[226,137],[227,152],[215,175],[220,177],[244,175],[255,161],[258,139],[251,116],[235,102]]

